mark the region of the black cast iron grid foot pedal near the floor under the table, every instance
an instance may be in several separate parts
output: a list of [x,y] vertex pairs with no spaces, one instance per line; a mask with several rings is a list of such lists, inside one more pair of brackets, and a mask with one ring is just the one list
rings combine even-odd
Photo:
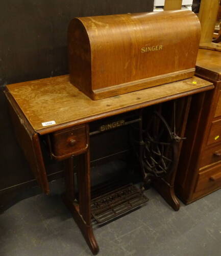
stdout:
[[97,223],[109,222],[138,208],[149,199],[133,184],[124,185],[91,200],[91,213]]

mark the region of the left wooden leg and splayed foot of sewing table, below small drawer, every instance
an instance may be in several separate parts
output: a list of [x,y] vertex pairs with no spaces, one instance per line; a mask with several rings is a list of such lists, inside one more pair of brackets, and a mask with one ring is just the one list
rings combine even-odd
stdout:
[[[65,160],[65,180],[66,194],[64,202],[72,213],[81,232],[90,247],[93,254],[99,252],[99,246],[94,238],[91,225],[90,210],[90,155],[89,150],[85,154],[79,156],[80,168],[77,168],[78,187],[79,187],[79,203],[75,200],[75,192],[73,188],[73,163],[71,159]],[[71,188],[72,184],[72,188]]]

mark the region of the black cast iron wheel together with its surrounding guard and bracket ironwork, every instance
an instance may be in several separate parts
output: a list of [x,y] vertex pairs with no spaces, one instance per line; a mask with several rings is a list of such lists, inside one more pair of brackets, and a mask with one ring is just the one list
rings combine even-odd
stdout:
[[153,177],[164,179],[170,175],[177,164],[179,142],[184,138],[176,134],[175,103],[173,108],[170,115],[170,121],[173,120],[174,124],[173,131],[173,125],[168,124],[161,109],[152,111],[146,122],[142,120],[146,117],[142,113],[140,115],[139,139],[133,137],[132,140],[143,175],[143,188],[149,188]]

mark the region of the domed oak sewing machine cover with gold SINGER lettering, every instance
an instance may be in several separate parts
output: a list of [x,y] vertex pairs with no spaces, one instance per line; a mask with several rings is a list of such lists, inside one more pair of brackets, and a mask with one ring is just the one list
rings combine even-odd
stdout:
[[70,82],[97,100],[192,77],[199,42],[188,10],[73,18]]

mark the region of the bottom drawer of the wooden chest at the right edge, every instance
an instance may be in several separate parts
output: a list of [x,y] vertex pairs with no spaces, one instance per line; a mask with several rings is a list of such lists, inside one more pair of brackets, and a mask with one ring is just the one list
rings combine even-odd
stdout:
[[205,170],[198,175],[194,197],[207,195],[219,187],[221,187],[221,164]]

